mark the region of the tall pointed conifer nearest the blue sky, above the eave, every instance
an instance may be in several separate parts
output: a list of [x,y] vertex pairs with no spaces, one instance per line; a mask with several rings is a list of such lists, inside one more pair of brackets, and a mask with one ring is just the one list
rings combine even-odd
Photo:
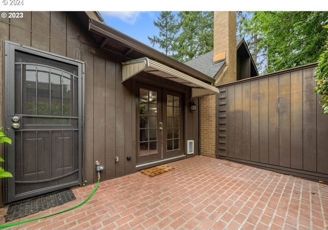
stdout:
[[162,11],[154,21],[154,26],[159,29],[159,35],[148,36],[153,47],[158,44],[166,55],[173,55],[175,51],[175,37],[178,31],[178,23],[175,15],[170,11]]

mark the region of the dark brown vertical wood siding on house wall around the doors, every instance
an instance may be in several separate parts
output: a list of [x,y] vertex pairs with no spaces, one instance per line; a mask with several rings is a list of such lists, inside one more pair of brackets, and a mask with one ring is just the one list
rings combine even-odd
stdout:
[[[99,44],[74,13],[24,12],[24,18],[0,18],[0,87],[3,87],[4,79],[5,40],[85,62],[83,175],[87,183],[97,181],[96,160],[105,165],[102,180],[135,171],[135,81],[184,93],[185,149],[187,140],[195,140],[195,154],[192,156],[198,155],[198,113],[189,110],[191,88],[145,72],[122,84],[121,62],[124,60],[99,49]],[[194,102],[198,110],[198,101]],[[4,121],[3,94],[0,94],[0,121]],[[3,156],[2,145],[0,148]],[[115,156],[119,157],[116,163]],[[132,159],[128,161],[127,157]]]

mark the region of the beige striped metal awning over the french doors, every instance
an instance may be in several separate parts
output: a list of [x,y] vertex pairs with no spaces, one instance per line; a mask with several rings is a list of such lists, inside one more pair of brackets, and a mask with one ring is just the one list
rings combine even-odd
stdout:
[[218,88],[204,83],[186,73],[180,72],[167,65],[148,59],[147,57],[123,62],[122,82],[128,80],[129,78],[132,78],[132,76],[141,71],[146,71],[154,75],[161,76],[162,78],[166,78],[171,81],[192,87],[192,98],[219,93]]

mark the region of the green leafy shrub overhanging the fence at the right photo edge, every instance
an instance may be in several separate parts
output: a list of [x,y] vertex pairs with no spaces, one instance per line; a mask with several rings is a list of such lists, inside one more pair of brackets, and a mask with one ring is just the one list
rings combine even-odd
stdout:
[[[328,25],[325,25],[324,28],[328,29]],[[328,114],[328,38],[326,39],[324,50],[319,57],[319,64],[316,68],[315,77],[317,87],[314,91],[322,95],[320,100],[322,113]]]

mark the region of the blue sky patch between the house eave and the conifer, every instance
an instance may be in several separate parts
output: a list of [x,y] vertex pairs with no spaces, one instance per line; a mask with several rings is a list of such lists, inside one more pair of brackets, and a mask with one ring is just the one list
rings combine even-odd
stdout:
[[[158,29],[154,26],[154,20],[160,11],[115,11],[100,12],[106,24],[114,29],[125,33],[139,42],[152,47],[148,36],[158,35]],[[154,47],[155,49],[157,47]]]

